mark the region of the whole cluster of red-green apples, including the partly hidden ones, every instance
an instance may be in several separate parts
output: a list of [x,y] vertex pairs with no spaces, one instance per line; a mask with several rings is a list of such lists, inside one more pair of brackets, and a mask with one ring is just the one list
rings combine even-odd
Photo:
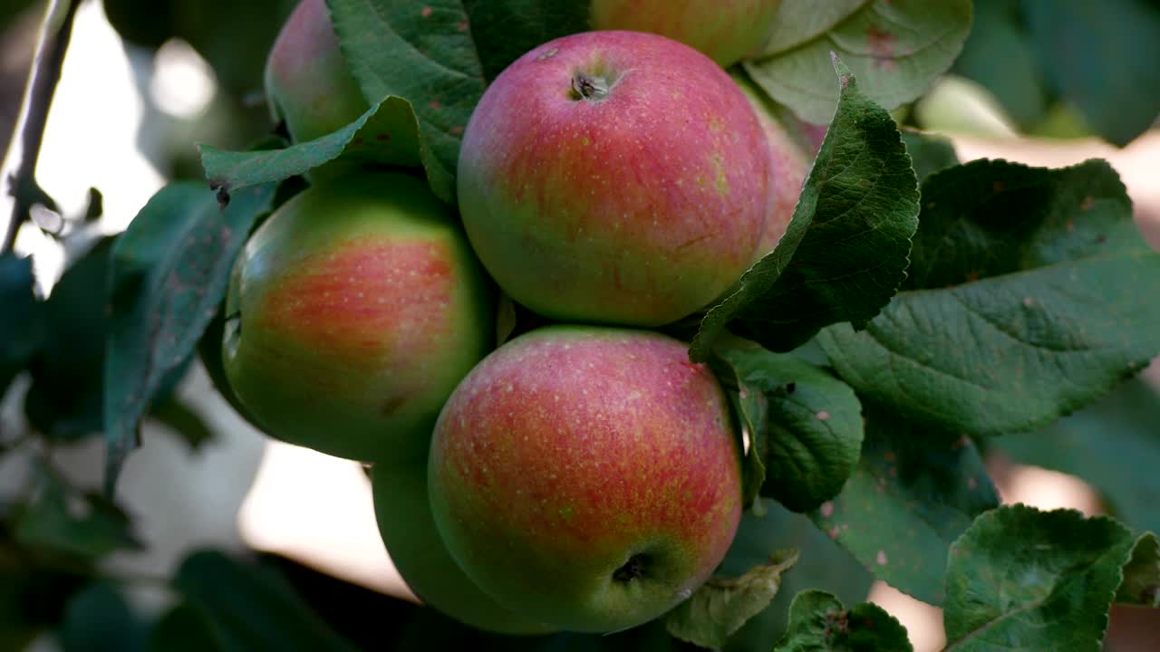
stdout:
[[[723,68],[775,5],[593,0],[594,31],[488,86],[457,205],[405,171],[316,172],[247,241],[229,390],[271,436],[372,464],[383,542],[432,607],[506,633],[616,631],[728,549],[727,398],[654,329],[728,292],[792,212],[806,157]],[[367,107],[322,0],[290,16],[266,82],[296,142]],[[500,343],[503,295],[542,326]]]

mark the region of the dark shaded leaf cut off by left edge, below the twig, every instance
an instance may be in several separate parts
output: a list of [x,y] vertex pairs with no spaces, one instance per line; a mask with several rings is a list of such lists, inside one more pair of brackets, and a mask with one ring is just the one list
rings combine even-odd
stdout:
[[0,398],[8,384],[39,350],[44,338],[43,305],[32,294],[32,259],[0,255]]

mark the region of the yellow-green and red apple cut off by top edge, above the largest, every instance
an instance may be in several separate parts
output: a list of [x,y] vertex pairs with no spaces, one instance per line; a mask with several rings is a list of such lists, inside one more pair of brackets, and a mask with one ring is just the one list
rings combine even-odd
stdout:
[[781,0],[593,0],[593,29],[650,31],[704,52],[722,67],[759,53]]

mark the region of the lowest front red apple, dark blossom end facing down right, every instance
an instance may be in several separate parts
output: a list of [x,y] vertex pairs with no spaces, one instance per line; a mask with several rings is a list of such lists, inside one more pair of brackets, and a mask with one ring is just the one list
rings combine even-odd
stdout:
[[741,517],[722,387],[687,345],[646,331],[549,326],[496,349],[443,407],[428,483],[467,577],[572,631],[673,608]]

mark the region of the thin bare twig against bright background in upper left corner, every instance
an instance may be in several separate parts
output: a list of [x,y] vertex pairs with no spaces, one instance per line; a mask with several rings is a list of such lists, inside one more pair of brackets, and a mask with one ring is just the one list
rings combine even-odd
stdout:
[[[24,88],[24,101],[20,107],[20,119],[16,131],[20,135],[20,165],[15,172],[7,167],[0,173],[0,183],[6,184],[6,191],[15,198],[12,217],[3,240],[0,241],[0,253],[12,251],[16,241],[20,225],[29,219],[29,211],[36,204],[57,210],[56,202],[36,183],[36,160],[41,155],[41,143],[44,139],[44,125],[52,106],[52,95],[60,81],[60,67],[65,60],[65,51],[72,37],[73,19],[82,0],[52,0],[44,22],[41,26],[41,39],[32,59],[32,70]],[[14,136],[13,146],[17,139]]]

